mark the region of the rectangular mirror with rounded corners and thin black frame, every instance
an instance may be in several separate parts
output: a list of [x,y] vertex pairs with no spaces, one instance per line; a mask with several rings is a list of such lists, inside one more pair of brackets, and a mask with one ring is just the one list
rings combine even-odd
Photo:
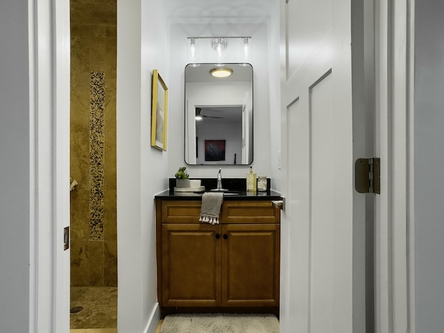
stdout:
[[[230,75],[216,77],[223,75],[223,70]],[[191,165],[253,162],[250,64],[185,67],[185,162]]]

